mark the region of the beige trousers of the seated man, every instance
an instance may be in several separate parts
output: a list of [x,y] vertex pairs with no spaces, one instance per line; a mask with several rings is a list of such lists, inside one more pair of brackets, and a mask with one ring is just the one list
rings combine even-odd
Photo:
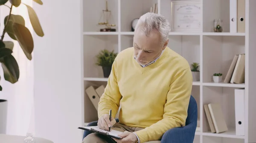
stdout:
[[[129,127],[125,126],[121,123],[115,123],[112,127],[112,129],[120,132],[136,132],[138,130],[141,130],[143,128],[138,128],[138,127]],[[98,133],[91,133],[84,137],[84,140],[82,143],[116,143],[115,140],[113,140],[111,137],[107,137],[105,135],[101,135]],[[154,140],[154,141],[149,141],[146,143],[160,143],[160,140]]]

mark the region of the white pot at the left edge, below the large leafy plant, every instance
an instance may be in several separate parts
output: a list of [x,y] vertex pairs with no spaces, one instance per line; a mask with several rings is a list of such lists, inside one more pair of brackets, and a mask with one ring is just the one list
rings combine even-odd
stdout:
[[0,99],[0,134],[6,134],[7,101]]

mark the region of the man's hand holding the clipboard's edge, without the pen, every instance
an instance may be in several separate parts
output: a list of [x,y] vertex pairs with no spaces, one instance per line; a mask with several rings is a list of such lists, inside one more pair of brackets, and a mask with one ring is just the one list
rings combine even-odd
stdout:
[[119,140],[119,139],[113,138],[113,140],[115,140],[116,143],[137,143],[138,141],[136,135],[128,131],[125,131],[118,136],[122,137],[122,139]]

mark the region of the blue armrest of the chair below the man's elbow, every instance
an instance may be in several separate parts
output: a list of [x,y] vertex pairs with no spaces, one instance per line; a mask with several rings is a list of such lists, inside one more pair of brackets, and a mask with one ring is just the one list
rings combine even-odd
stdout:
[[194,124],[169,129],[163,134],[161,143],[193,143],[195,129]]

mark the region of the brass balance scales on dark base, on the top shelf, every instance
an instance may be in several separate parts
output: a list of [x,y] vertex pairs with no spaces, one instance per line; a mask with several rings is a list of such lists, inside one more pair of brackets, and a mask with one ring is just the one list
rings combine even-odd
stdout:
[[[111,14],[111,11],[108,10],[108,1],[106,0],[106,9],[102,10],[102,15],[100,17],[99,20],[99,25],[105,25],[105,28],[100,29],[101,32],[115,32],[116,29],[115,28],[111,28],[111,27],[115,27],[115,24],[110,24],[110,20],[113,19],[113,16]],[[100,22],[103,16],[103,22]]]

